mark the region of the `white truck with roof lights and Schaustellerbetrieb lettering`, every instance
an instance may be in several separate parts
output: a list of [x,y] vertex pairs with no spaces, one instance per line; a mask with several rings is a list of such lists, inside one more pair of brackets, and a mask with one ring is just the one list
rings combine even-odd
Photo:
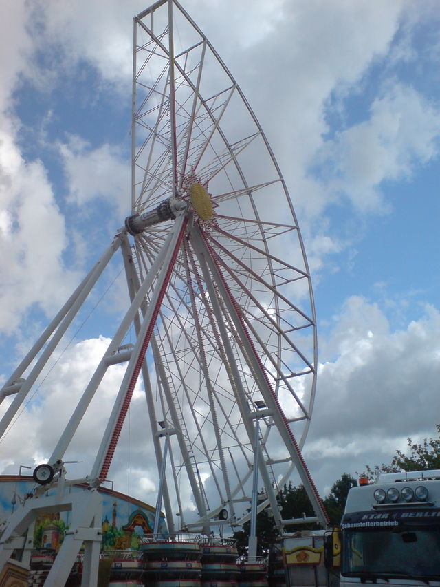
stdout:
[[[440,586],[440,469],[364,479],[349,491],[338,538],[341,587]],[[329,533],[328,567],[335,540]]]

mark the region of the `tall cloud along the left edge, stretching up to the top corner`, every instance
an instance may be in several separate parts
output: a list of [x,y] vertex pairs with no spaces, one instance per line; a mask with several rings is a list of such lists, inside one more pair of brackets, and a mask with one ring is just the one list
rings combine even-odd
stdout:
[[29,14],[25,2],[8,2],[0,23],[0,332],[8,334],[35,304],[52,312],[79,277],[63,263],[65,222],[47,170],[23,158],[21,122],[12,114],[13,92],[32,69]]

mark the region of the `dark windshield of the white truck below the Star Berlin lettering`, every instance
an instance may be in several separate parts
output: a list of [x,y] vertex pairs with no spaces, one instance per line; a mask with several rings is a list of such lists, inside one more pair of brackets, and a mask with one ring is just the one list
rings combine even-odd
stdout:
[[342,575],[440,578],[440,527],[344,529]]

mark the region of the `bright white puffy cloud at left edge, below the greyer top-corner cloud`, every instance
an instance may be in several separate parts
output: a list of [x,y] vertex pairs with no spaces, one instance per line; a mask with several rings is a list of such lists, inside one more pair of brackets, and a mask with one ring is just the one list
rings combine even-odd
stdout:
[[10,334],[33,304],[60,306],[78,273],[63,263],[65,222],[46,170],[23,160],[8,131],[0,134],[0,202],[0,330]]

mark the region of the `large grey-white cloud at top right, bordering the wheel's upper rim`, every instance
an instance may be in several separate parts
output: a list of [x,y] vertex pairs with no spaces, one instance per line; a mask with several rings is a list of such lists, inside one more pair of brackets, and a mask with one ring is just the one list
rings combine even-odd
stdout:
[[371,2],[285,3],[278,26],[241,60],[237,78],[302,213],[312,205],[316,215],[328,204],[326,192],[317,187],[309,200],[306,178],[328,131],[327,100],[337,87],[360,83],[373,60],[386,54],[403,6],[398,1],[375,2],[374,8]]

